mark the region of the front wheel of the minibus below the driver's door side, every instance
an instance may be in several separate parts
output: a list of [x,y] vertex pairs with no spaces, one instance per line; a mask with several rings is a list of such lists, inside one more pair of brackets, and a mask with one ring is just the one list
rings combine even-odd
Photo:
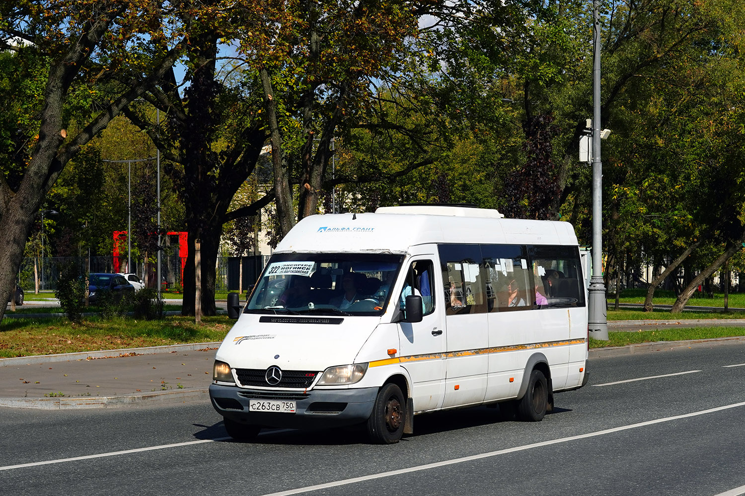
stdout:
[[406,424],[406,399],[396,384],[385,384],[375,398],[373,413],[367,419],[367,434],[375,444],[399,442]]

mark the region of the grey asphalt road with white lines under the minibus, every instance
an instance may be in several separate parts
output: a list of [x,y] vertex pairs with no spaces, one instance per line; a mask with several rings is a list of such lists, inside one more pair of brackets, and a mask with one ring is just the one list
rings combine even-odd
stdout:
[[390,446],[349,430],[232,442],[209,404],[2,408],[0,492],[745,494],[745,344],[592,358],[589,370],[543,422],[499,422],[495,408],[417,416],[416,434]]

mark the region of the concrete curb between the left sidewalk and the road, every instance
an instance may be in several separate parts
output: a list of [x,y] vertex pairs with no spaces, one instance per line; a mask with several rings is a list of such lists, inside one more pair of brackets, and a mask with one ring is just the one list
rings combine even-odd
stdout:
[[166,391],[122,396],[71,396],[54,398],[0,398],[0,407],[36,410],[76,410],[83,408],[121,408],[131,405],[173,405],[185,402],[209,402],[209,389]]

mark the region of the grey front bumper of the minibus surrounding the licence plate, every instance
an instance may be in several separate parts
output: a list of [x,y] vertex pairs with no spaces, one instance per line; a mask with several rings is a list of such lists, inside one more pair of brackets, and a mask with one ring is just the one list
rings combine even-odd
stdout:
[[[378,395],[377,387],[355,389],[313,389],[310,391],[256,390],[210,384],[212,406],[222,416],[242,424],[276,428],[322,428],[353,425],[370,417]],[[252,412],[252,399],[291,400],[295,413]]]

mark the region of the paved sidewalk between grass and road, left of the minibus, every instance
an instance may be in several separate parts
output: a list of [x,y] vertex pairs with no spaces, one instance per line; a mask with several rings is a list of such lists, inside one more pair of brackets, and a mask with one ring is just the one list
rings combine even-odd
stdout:
[[0,359],[0,407],[209,402],[219,343]]

